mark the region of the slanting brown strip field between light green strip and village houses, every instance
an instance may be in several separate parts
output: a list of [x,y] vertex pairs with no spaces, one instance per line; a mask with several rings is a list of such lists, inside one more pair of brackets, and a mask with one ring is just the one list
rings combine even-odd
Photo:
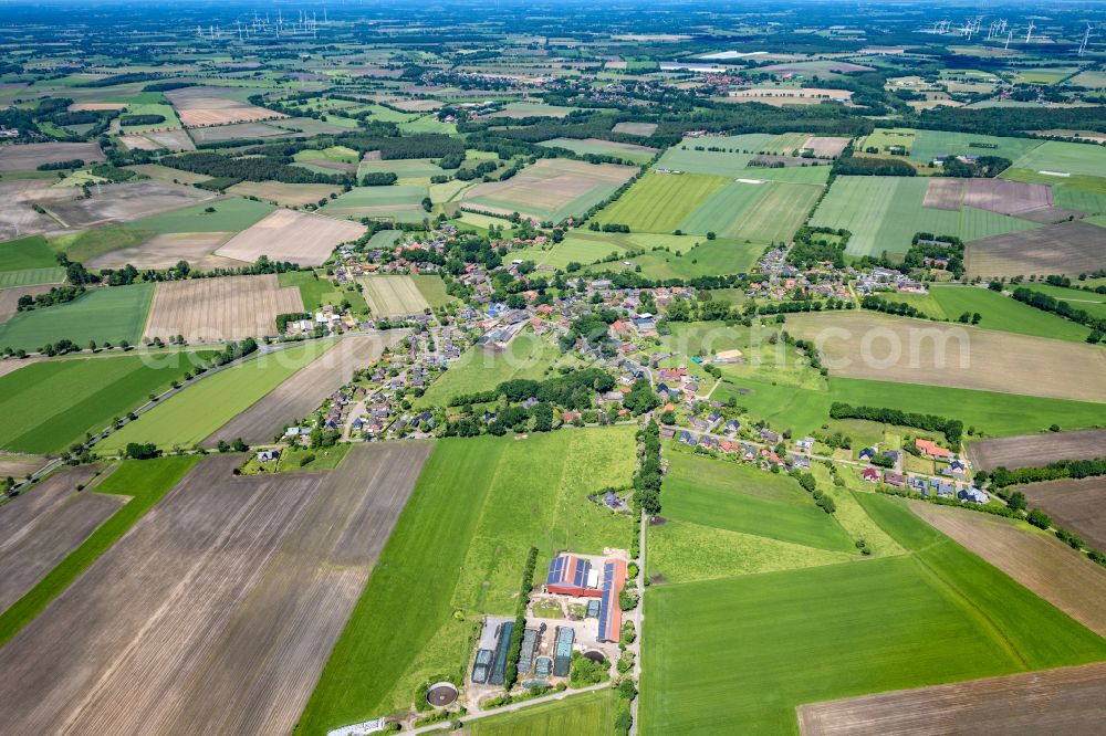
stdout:
[[403,332],[398,329],[344,337],[206,439],[204,446],[213,448],[219,440],[232,442],[239,437],[248,444],[271,442],[289,422],[314,411],[326,397],[353,378],[355,370],[379,358],[385,347],[395,345],[403,337]]

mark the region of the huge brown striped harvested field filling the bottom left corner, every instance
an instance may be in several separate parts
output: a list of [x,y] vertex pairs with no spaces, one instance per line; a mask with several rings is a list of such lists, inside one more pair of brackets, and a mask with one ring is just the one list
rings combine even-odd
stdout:
[[292,732],[430,446],[206,459],[0,650],[0,730]]

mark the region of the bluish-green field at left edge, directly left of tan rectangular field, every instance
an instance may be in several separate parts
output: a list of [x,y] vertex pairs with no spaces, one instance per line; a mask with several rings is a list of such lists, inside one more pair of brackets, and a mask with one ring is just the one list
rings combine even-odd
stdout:
[[70,339],[85,346],[122,340],[136,344],[146,326],[154,284],[93,288],[66,304],[21,312],[0,325],[0,347],[38,350]]

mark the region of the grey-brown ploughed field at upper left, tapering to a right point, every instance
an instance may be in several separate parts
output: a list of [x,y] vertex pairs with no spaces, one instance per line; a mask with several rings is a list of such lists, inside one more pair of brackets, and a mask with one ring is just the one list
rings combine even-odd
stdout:
[[84,229],[179,210],[215,197],[212,192],[195,187],[158,181],[104,185],[94,188],[88,199],[77,199],[80,191],[65,192],[67,199],[40,201],[66,228]]

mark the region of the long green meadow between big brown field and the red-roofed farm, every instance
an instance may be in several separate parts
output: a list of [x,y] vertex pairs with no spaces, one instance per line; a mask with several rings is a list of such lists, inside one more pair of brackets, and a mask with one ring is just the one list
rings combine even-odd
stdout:
[[[628,544],[628,518],[584,498],[625,486],[632,428],[438,442],[300,719],[304,734],[407,707],[470,664],[480,614],[514,610],[526,550]],[[452,560],[442,564],[442,560]],[[417,601],[417,604],[413,604]],[[459,616],[455,616],[457,612]]]

